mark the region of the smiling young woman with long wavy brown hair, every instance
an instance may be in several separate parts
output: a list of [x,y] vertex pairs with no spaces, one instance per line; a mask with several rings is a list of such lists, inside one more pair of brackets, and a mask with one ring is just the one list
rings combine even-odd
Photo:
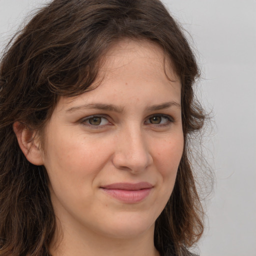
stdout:
[[0,255],[190,255],[199,71],[158,0],[53,0],[0,66]]

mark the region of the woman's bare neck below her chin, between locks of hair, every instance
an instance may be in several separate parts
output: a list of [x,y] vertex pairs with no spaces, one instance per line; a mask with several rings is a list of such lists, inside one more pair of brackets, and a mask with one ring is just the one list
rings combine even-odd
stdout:
[[87,232],[81,228],[68,230],[59,227],[50,244],[52,256],[159,256],[153,243],[154,225],[142,234],[121,238],[93,233],[91,230]]

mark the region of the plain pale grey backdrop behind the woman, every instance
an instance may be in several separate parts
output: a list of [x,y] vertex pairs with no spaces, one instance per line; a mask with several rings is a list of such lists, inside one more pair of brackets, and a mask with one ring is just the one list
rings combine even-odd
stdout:
[[[0,50],[45,1],[0,0]],[[215,119],[206,147],[216,181],[200,255],[255,256],[256,1],[163,2],[191,35],[202,69],[198,96]]]

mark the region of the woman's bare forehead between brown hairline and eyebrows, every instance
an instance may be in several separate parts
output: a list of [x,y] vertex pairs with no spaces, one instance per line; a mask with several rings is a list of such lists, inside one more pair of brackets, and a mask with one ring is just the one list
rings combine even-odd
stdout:
[[60,102],[72,104],[93,99],[113,103],[109,101],[136,97],[158,104],[157,97],[169,101],[171,95],[180,103],[181,86],[169,58],[158,44],[147,40],[123,39],[112,45],[102,57],[96,80],[90,87],[92,90],[73,98],[62,97]]

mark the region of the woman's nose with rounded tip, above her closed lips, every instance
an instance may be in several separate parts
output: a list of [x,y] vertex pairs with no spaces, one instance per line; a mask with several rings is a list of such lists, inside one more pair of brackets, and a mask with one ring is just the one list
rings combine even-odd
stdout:
[[116,168],[137,173],[153,162],[147,145],[148,141],[139,128],[126,128],[115,139],[112,161]]

